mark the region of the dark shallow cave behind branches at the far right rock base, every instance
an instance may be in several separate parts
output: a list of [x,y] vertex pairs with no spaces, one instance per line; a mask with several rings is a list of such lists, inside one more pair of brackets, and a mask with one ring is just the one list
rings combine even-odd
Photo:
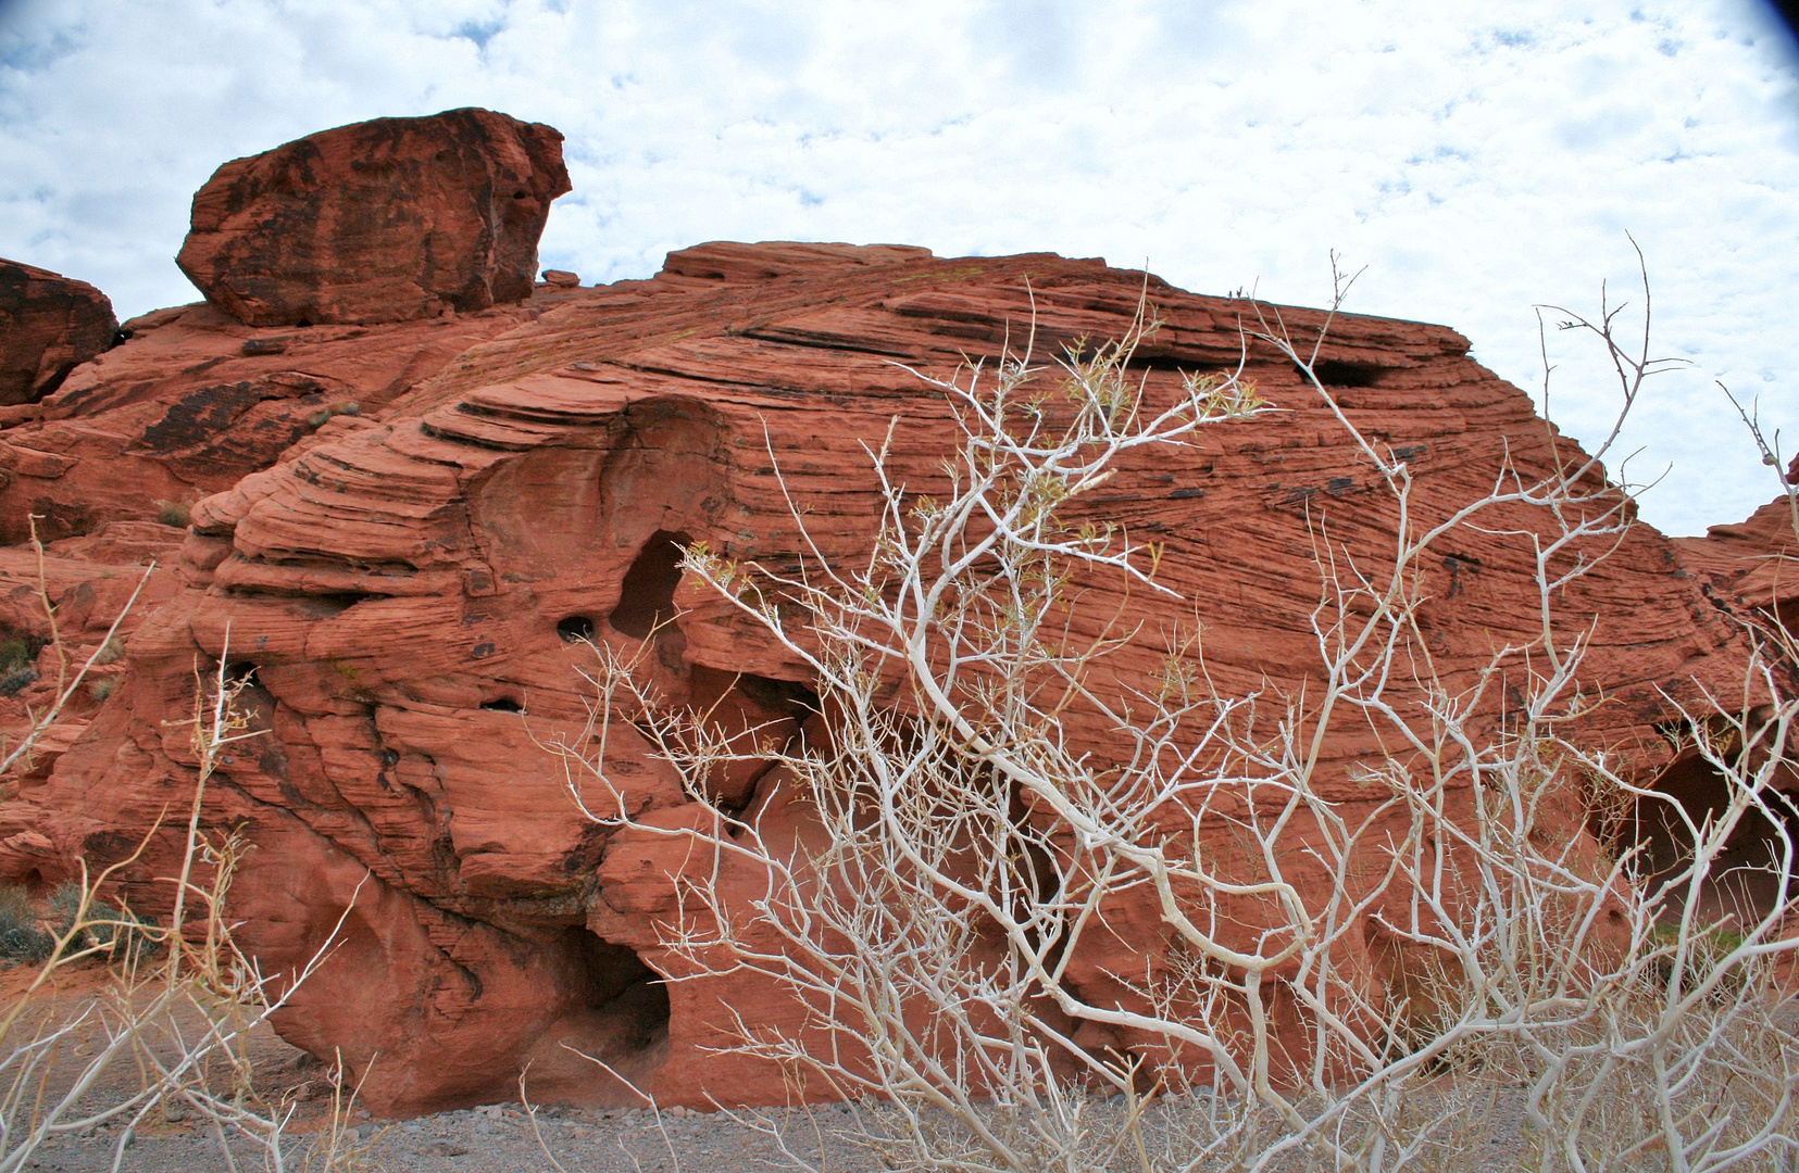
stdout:
[[[1651,889],[1693,862],[1695,839],[1680,812],[1696,826],[1722,817],[1731,805],[1731,783],[1713,763],[1687,753],[1662,771],[1653,790],[1668,798],[1637,799],[1623,835],[1623,846],[1639,848],[1637,878]],[[1749,925],[1774,911],[1781,889],[1783,832],[1799,848],[1799,796],[1776,792],[1768,805],[1774,808],[1772,817],[1749,810],[1725,839],[1723,851],[1700,886],[1700,923],[1731,918],[1738,925]],[[1799,891],[1799,855],[1786,878],[1790,898]],[[1669,914],[1680,913],[1684,904],[1686,891],[1677,886],[1669,893]]]

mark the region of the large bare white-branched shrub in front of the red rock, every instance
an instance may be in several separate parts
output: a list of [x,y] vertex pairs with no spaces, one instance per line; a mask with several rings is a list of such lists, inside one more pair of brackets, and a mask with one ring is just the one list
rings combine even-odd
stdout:
[[[1605,347],[1624,410],[1662,366],[1642,293],[1630,348],[1617,307],[1563,313]],[[1025,352],[926,379],[959,447],[932,498],[871,453],[885,512],[862,564],[811,548],[777,575],[687,551],[810,668],[829,731],[781,754],[748,810],[637,825],[700,860],[662,925],[689,972],[766,975],[810,1010],[795,1033],[739,1019],[730,1049],[781,1065],[795,1096],[858,1103],[889,1168],[1792,1168],[1792,643],[1759,629],[1738,692],[1669,697],[1722,805],[1642,785],[1580,740],[1590,616],[1556,611],[1632,523],[1599,463],[1610,442],[1547,476],[1508,462],[1479,499],[1427,507],[1319,377],[1324,331],[1295,338],[1245,302],[1245,352],[1259,340],[1306,375],[1394,523],[1380,550],[1315,526],[1304,695],[1225,695],[1198,632],[1169,639],[1155,679],[1121,683],[1108,657],[1142,632],[1074,641],[1067,607],[1099,575],[1162,591],[1160,550],[1067,521],[1070,501],[1133,449],[1266,410],[1243,365],[1148,402],[1126,363],[1150,329],[1054,377]],[[804,530],[802,503],[793,517]],[[1466,528],[1531,551],[1538,631],[1452,684],[1418,571]],[[772,753],[669,706],[621,647],[595,645],[590,728],[559,742],[592,817],[631,823],[606,767],[621,722],[696,801],[727,760]],[[1346,733],[1385,747],[1358,767],[1376,803],[1324,796]],[[1614,841],[1580,830],[1608,814]],[[1630,830],[1650,817],[1678,830],[1673,859]],[[795,821],[808,832],[781,830]],[[1770,855],[1727,864],[1750,823]],[[1295,884],[1301,860],[1328,882]],[[1741,889],[1731,869],[1754,905],[1722,902]],[[1166,941],[1110,972],[1121,995],[1087,997],[1070,966],[1117,952],[1124,902],[1148,902]],[[1371,979],[1369,925],[1391,981]]]

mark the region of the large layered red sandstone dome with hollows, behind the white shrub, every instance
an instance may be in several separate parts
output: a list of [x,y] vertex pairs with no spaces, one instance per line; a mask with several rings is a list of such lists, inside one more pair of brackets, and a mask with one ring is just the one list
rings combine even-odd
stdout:
[[[225,657],[254,666],[245,699],[268,731],[225,767],[209,805],[209,819],[257,844],[234,889],[241,939],[279,970],[349,909],[342,948],[281,1029],[318,1054],[342,1047],[356,1071],[372,1062],[363,1094],[376,1110],[507,1099],[525,1063],[545,1101],[630,1103],[565,1042],[664,1103],[781,1099],[768,1069],[702,1047],[727,1002],[792,1026],[790,1002],[743,977],[657,981],[676,970],[657,932],[671,877],[700,860],[585,819],[541,749],[574,736],[585,713],[577,670],[592,652],[567,636],[622,650],[653,638],[646,663],[673,702],[709,708],[725,735],[784,722],[806,736],[801,668],[682,586],[673,544],[703,539],[792,568],[804,546],[790,492],[826,555],[860,559],[876,517],[862,442],[898,420],[898,474],[926,485],[953,435],[941,395],[901,365],[948,375],[1025,336],[1033,314],[1040,356],[1115,338],[1144,287],[1142,273],[1054,255],[711,244],[673,253],[653,280],[563,291],[385,410],[318,429],[194,507],[185,587],[131,638],[124,683],[54,771],[0,807],[0,877],[52,882],[77,855],[135,842],[178,801],[192,758],[164,722],[187,711],[194,656]],[[1259,347],[1240,354],[1241,304],[1153,278],[1148,296],[1166,322],[1133,359],[1151,395],[1184,370],[1243,359],[1281,411],[1139,453],[1079,508],[1166,542],[1160,580],[1182,600],[1135,598],[1141,631],[1196,613],[1222,688],[1297,690],[1315,663],[1320,526],[1378,544],[1391,505],[1292,366]],[[1295,331],[1322,322],[1281,313]],[[1529,399],[1466,350],[1445,327],[1358,316],[1338,318],[1324,350],[1344,410],[1414,469],[1421,516],[1481,496],[1508,456],[1526,476],[1551,467]],[[293,366],[284,356],[254,377]],[[1515,532],[1536,525],[1522,510],[1490,516],[1428,566],[1421,623],[1452,684],[1493,645],[1535,636],[1529,542]],[[1589,683],[1608,697],[1594,733],[1651,776],[1666,753],[1657,688],[1727,675],[1736,629],[1646,526],[1562,607],[1594,623]],[[658,614],[675,623],[651,634]],[[1076,607],[1072,636],[1110,614]],[[1160,656],[1144,638],[1112,670],[1142,679]],[[613,778],[640,821],[703,817],[635,733],[613,736]],[[1329,747],[1328,785],[1349,819],[1371,798],[1346,767],[1371,749],[1349,735]],[[716,785],[763,803],[766,826],[797,828],[774,781]],[[139,875],[164,875],[169,850],[162,841]],[[1288,878],[1304,887],[1306,866],[1295,859]],[[1112,923],[1141,954],[1079,959],[1070,974],[1090,997],[1160,948],[1148,905]]]

